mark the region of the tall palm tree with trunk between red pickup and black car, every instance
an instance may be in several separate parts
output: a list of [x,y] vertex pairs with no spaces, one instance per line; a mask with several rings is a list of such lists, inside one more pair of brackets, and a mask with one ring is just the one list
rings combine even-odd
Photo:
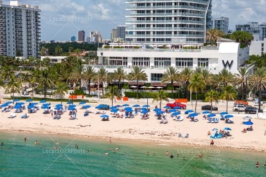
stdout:
[[197,102],[198,102],[198,92],[200,90],[203,90],[204,88],[204,82],[201,78],[201,75],[199,73],[196,73],[193,75],[193,77],[190,80],[190,84],[188,88],[196,93],[196,104],[195,104],[195,112],[197,110]]

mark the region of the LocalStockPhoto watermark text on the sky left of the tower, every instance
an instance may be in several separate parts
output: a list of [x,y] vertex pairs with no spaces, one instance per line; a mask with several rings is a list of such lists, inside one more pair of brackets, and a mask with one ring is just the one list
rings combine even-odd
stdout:
[[82,16],[61,16],[61,17],[50,17],[50,22],[92,22],[92,17],[82,17]]

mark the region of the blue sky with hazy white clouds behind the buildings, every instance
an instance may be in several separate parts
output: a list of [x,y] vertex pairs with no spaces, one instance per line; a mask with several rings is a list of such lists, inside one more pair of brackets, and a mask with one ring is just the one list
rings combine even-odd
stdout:
[[[110,39],[111,29],[125,25],[126,0],[20,0],[41,9],[41,40],[70,40],[84,30],[100,31]],[[3,0],[4,4],[9,1]],[[229,17],[229,28],[250,21],[266,22],[266,0],[212,0],[213,17]]]

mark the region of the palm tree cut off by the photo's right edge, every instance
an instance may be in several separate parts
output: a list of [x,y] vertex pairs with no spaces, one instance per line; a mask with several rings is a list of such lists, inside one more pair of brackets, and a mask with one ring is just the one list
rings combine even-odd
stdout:
[[266,67],[257,68],[257,70],[249,78],[249,82],[259,91],[259,110],[261,109],[261,92],[266,89]]

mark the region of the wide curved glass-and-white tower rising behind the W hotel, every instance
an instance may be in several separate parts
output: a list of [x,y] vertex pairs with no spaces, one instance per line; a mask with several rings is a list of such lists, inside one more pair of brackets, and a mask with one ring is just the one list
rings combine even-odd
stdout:
[[211,0],[126,0],[126,39],[146,44],[202,44],[212,27]]

